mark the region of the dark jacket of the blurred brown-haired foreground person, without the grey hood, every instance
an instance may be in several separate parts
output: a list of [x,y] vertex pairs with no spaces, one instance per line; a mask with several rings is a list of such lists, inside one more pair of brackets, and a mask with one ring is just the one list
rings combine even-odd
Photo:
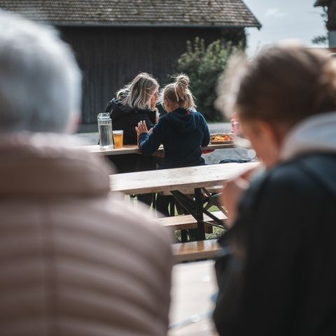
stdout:
[[336,335],[335,172],[310,153],[251,184],[216,261],[220,335]]

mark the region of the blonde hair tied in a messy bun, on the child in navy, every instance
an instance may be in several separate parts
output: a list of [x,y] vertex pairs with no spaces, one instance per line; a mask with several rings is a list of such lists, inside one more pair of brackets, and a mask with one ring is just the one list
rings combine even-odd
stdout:
[[166,85],[160,92],[159,102],[163,103],[165,99],[179,104],[183,109],[195,109],[194,97],[189,90],[189,77],[180,73],[174,83]]

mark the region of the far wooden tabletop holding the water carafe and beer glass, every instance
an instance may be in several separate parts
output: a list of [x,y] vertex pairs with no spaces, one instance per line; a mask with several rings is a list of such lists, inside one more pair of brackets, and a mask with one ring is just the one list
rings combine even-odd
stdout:
[[[235,144],[209,144],[208,146],[202,147],[203,151],[210,151],[215,149],[223,148],[234,148]],[[90,146],[78,146],[78,148],[83,148],[91,153],[96,153],[99,155],[121,155],[121,154],[140,154],[139,148],[137,145],[125,145],[123,148],[118,149],[105,149],[102,150],[99,145],[90,145]],[[158,152],[162,152],[163,147],[160,146]]]

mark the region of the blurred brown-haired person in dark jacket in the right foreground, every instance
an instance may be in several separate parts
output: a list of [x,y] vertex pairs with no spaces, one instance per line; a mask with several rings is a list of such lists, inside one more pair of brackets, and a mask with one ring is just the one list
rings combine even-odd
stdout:
[[218,332],[336,335],[336,59],[283,43],[232,61],[224,83],[266,170],[224,190]]

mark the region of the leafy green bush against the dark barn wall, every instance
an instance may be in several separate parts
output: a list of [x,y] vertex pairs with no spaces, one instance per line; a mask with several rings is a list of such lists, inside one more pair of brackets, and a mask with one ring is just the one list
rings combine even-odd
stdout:
[[176,71],[186,73],[190,78],[190,90],[196,98],[197,111],[209,121],[222,120],[221,113],[214,108],[216,85],[223,73],[228,58],[234,50],[241,47],[231,42],[214,41],[208,46],[204,40],[195,38],[192,44],[187,41],[187,49],[177,61]]

